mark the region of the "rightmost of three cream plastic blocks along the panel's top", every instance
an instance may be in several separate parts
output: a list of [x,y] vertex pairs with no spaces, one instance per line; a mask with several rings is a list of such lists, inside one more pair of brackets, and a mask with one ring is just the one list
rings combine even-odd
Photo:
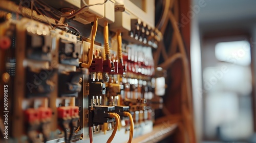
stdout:
[[131,14],[127,11],[115,12],[115,22],[110,25],[111,31],[127,32],[131,31]]

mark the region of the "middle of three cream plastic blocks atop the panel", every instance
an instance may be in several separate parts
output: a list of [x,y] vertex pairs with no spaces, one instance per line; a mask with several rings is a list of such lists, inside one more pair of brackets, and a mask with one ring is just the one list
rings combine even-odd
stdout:
[[99,19],[99,25],[104,26],[104,21],[113,23],[115,21],[115,1],[109,0],[104,5],[104,17]]

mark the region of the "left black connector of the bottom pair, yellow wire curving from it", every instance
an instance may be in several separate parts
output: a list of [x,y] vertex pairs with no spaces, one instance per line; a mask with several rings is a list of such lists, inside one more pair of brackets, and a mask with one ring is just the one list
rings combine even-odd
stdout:
[[110,117],[110,112],[114,112],[114,106],[93,106],[92,118],[89,118],[89,124],[103,125],[103,123],[114,122],[115,118]]

